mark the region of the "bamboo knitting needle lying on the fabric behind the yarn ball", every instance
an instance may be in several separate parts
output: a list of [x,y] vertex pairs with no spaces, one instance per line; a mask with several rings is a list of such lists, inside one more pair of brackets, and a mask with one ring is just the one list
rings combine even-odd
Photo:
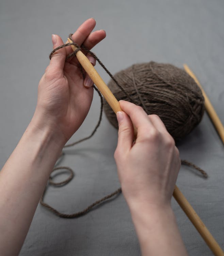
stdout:
[[205,98],[205,109],[206,109],[209,117],[211,118],[211,121],[212,121],[214,127],[216,128],[222,142],[224,143],[224,127],[223,127],[222,122],[220,121],[217,113],[215,112],[208,96],[206,95],[204,89],[202,88],[202,85],[199,83],[199,81],[197,80],[197,77],[190,70],[188,65],[183,64],[183,67],[184,67],[185,71],[194,79],[195,83],[199,86],[199,88],[202,90],[202,94]]

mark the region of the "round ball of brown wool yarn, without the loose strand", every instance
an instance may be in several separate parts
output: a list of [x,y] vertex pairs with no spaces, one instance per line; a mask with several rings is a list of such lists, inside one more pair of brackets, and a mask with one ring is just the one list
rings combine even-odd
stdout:
[[[118,84],[146,113],[158,115],[175,140],[190,133],[201,121],[204,97],[201,89],[184,70],[171,64],[141,63],[114,75]],[[108,87],[117,100],[128,100],[113,80]],[[115,113],[106,101],[104,110],[110,123],[118,128]]]

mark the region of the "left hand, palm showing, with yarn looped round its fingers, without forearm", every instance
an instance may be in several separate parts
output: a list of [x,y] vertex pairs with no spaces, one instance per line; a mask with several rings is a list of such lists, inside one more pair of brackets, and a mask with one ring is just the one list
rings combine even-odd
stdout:
[[[99,43],[106,37],[106,32],[92,32],[95,25],[93,18],[87,19],[73,34],[74,42],[88,49]],[[58,35],[52,35],[52,43],[53,48],[64,44]],[[77,58],[65,61],[71,52],[71,47],[67,46],[52,55],[39,82],[37,106],[31,121],[39,128],[50,126],[53,132],[57,132],[57,138],[62,140],[62,144],[80,127],[93,99],[93,83],[87,74],[83,81]],[[86,56],[95,65],[95,59],[89,54]]]

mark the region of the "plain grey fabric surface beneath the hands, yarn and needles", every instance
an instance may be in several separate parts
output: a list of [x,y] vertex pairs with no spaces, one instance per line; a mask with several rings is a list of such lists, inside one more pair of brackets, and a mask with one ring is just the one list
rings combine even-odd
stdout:
[[[18,143],[33,115],[37,85],[49,63],[51,34],[64,40],[87,18],[107,38],[94,52],[115,73],[133,63],[187,63],[201,81],[224,123],[223,0],[1,0],[0,1],[0,167]],[[96,69],[105,82],[108,75]],[[71,141],[91,133],[99,115],[99,98]],[[64,150],[62,165],[75,179],[50,188],[46,202],[64,213],[82,210],[119,187],[113,153],[117,131],[105,115],[95,136]],[[177,185],[224,248],[224,146],[207,114],[178,143],[181,158],[205,169],[209,179],[181,167]],[[62,179],[58,176],[57,180]],[[212,255],[196,229],[172,200],[188,253]],[[138,240],[122,195],[78,219],[62,219],[38,205],[20,256],[140,255]]]

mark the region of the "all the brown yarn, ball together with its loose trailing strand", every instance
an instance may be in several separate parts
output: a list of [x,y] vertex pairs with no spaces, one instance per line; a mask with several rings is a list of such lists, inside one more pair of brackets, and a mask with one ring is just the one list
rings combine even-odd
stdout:
[[[72,40],[71,35],[72,34],[69,35],[69,38]],[[105,71],[110,75],[112,80],[108,86],[111,88],[115,97],[118,99],[130,100],[137,105],[139,105],[139,102],[140,102],[140,105],[148,114],[154,113],[159,115],[160,118],[165,123],[167,130],[171,133],[174,139],[182,138],[187,133],[189,133],[201,121],[201,118],[204,112],[204,105],[203,105],[204,98],[202,96],[201,90],[197,87],[194,80],[191,79],[191,77],[183,70],[178,69],[170,64],[158,64],[156,62],[149,62],[149,63],[133,65],[127,70],[117,73],[113,77],[112,74],[107,70],[107,68],[103,65],[103,63],[97,58],[97,56],[94,53],[89,51],[83,45],[82,46],[77,45],[75,42],[63,44],[55,48],[49,55],[50,59],[53,53],[56,52],[58,49],[61,49],[69,45],[75,45],[77,49],[75,52],[68,55],[66,59],[75,56],[76,53],[81,49],[84,49],[86,52],[90,53],[99,62],[99,64],[103,67],[103,69],[105,69]],[[147,76],[149,70],[150,70],[151,76]],[[80,65],[80,71],[84,78],[84,72],[82,70],[81,65]],[[139,74],[137,75],[138,72]],[[131,88],[131,85],[132,85],[132,88]],[[90,134],[90,136],[87,136],[77,142],[66,144],[64,147],[74,146],[84,140],[90,139],[91,137],[93,137],[93,135],[95,134],[97,128],[101,123],[102,111],[103,111],[103,98],[100,91],[96,88],[96,86],[94,85],[93,87],[99,94],[100,100],[101,100],[100,115],[99,115],[99,120],[97,122],[97,125],[94,128],[93,132]],[[182,90],[181,90],[181,87],[182,87]],[[188,106],[184,108],[182,105],[186,104],[186,102]],[[175,104],[177,104],[177,106],[175,106]],[[117,123],[115,121],[116,116],[111,111],[106,101],[105,101],[105,106],[106,106],[105,112],[108,119],[115,127],[117,127]],[[148,109],[151,112],[149,112]],[[162,112],[162,114],[158,113],[159,110],[160,112]],[[178,113],[178,111],[180,110],[184,110],[186,113],[185,114]],[[166,114],[163,115],[164,112]],[[175,118],[176,119],[179,118],[179,119],[175,121],[174,120]],[[190,127],[188,127],[189,125]],[[181,127],[184,130],[182,133],[181,133]],[[61,154],[61,156],[62,155],[63,153]],[[207,173],[204,170],[202,170],[201,168],[197,167],[196,165],[194,165],[193,163],[187,160],[181,160],[181,164],[193,167],[199,172],[201,172],[204,177],[206,178],[208,177]],[[66,180],[58,183],[53,182],[52,176],[50,176],[48,185],[63,186],[73,179],[74,172],[71,168],[63,167],[63,166],[55,167],[52,170],[52,172],[59,169],[68,170],[70,173],[70,176]],[[87,212],[89,212],[90,210],[92,210],[96,205],[100,205],[102,202],[114,196],[117,196],[122,192],[121,188],[118,188],[116,191],[114,191],[110,195],[95,201],[94,203],[92,203],[82,211],[79,211],[73,214],[65,214],[65,213],[59,212],[58,210],[56,210],[55,208],[51,207],[49,204],[44,202],[44,196],[45,196],[46,190],[47,190],[47,186],[45,187],[40,203],[44,207],[46,207],[48,210],[52,211],[54,214],[62,218],[80,217],[86,214]]]

